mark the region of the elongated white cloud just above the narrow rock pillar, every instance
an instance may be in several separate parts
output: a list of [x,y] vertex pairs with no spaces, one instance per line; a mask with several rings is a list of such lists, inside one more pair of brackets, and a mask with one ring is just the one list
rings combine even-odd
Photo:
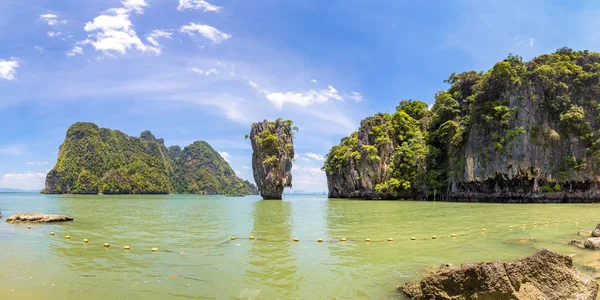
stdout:
[[285,93],[271,93],[261,88],[256,82],[248,82],[251,87],[256,89],[259,93],[269,100],[277,109],[281,110],[285,103],[292,103],[302,107],[307,107],[315,103],[326,103],[329,100],[343,100],[342,96],[333,87],[329,86],[323,90],[309,90],[307,92],[285,92]]

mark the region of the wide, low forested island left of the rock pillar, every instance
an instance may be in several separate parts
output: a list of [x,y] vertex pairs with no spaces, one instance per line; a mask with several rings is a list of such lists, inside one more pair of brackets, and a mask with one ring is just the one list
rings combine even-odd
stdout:
[[49,194],[253,194],[206,142],[167,149],[150,131],[131,137],[75,123],[46,177]]

